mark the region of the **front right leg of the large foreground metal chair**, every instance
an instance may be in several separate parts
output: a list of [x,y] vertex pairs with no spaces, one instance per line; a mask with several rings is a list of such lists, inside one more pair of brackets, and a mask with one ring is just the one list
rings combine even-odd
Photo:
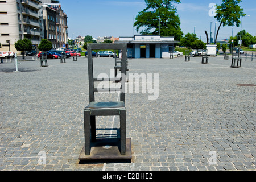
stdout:
[[126,110],[120,110],[120,143],[121,155],[126,151]]

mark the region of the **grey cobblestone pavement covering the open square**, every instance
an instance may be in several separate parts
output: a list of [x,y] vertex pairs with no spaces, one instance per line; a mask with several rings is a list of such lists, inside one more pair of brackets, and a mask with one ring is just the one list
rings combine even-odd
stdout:
[[[113,61],[94,59],[95,74],[109,74]],[[129,60],[127,73],[159,74],[159,97],[126,94],[132,159],[109,163],[78,160],[89,102],[87,59],[48,60],[48,67],[21,61],[20,72],[13,63],[0,64],[0,170],[256,169],[256,86],[237,85],[256,85],[255,61],[230,68],[223,57],[209,57],[209,64],[200,57]],[[118,119],[97,117],[97,137],[116,137]]]

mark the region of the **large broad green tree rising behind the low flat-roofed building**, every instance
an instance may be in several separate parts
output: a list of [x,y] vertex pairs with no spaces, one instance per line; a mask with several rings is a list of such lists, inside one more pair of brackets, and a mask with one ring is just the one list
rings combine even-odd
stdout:
[[[134,27],[141,34],[174,36],[180,40],[183,32],[180,29],[180,18],[176,15],[176,7],[172,3],[180,0],[145,0],[146,9],[140,11],[135,18]],[[152,31],[152,32],[151,32]]]

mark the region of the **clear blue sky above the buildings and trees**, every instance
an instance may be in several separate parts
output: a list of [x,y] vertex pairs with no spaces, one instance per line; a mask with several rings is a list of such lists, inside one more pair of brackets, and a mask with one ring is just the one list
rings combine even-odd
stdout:
[[[134,19],[139,11],[146,7],[144,0],[60,0],[61,7],[68,16],[69,37],[91,35],[98,36],[133,36],[139,34],[133,27]],[[214,38],[214,17],[209,16],[210,3],[221,4],[221,0],[181,0],[177,6],[177,14],[180,17],[181,31],[195,33],[198,38],[206,42],[204,31],[210,34],[210,22],[212,23],[212,35]],[[256,1],[243,0],[240,3],[243,11],[250,15],[242,20],[242,29],[256,36]],[[217,27],[220,23],[216,23]],[[241,27],[221,27],[218,40],[236,35]]]

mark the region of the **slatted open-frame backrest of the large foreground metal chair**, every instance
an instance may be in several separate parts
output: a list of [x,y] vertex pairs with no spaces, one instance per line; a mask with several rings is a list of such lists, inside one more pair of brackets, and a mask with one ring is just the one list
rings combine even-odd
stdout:
[[[88,44],[87,45],[87,52],[88,52],[88,76],[89,76],[89,101],[94,102],[95,101],[95,96],[94,92],[101,92],[101,90],[98,90],[97,88],[94,88],[94,82],[96,81],[103,81],[98,80],[97,78],[93,77],[93,57],[92,57],[92,50],[93,49],[117,49],[117,50],[122,50],[122,52],[126,52],[127,50],[127,44]],[[125,102],[125,82],[126,82],[126,53],[122,55],[122,63],[121,63],[121,73],[122,77],[120,83],[120,88],[119,90],[117,88],[108,88],[109,91],[121,91],[120,93],[120,101]],[[113,59],[114,61],[114,59]],[[115,81],[115,78],[109,78],[109,81]]]

